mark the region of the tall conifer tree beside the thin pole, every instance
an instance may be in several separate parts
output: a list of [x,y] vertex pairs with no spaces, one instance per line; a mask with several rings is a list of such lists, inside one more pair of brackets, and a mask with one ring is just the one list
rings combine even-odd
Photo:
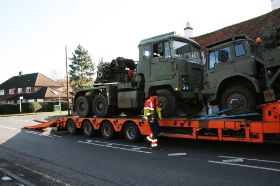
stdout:
[[77,49],[72,53],[70,60],[70,86],[73,92],[91,87],[93,85],[95,65],[88,51],[81,45],[78,45]]

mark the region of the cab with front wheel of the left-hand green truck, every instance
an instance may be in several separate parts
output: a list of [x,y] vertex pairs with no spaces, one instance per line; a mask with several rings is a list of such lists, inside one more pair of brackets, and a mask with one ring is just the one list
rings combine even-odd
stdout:
[[203,66],[195,41],[174,32],[142,40],[137,76],[143,79],[146,98],[157,92],[165,115],[201,111]]

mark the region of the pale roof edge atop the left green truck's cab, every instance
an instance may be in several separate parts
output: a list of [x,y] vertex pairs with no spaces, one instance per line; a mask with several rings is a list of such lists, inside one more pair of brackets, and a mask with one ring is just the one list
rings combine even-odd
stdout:
[[197,42],[195,42],[194,40],[187,39],[185,37],[176,35],[175,32],[169,32],[169,33],[166,33],[166,34],[161,34],[161,35],[158,35],[158,36],[143,39],[142,41],[140,41],[139,46],[146,45],[146,44],[151,44],[151,43],[158,43],[158,42],[161,42],[161,41],[164,41],[164,40],[169,40],[169,39],[185,41],[185,42],[191,43],[192,45],[200,48],[199,44]]

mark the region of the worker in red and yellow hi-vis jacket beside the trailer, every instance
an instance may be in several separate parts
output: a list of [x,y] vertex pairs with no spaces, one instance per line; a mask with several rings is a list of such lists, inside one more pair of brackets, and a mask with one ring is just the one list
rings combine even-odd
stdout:
[[151,130],[151,134],[147,136],[147,140],[151,142],[152,148],[157,148],[157,136],[159,134],[158,119],[162,119],[158,96],[150,96],[145,102],[144,119],[148,120]]

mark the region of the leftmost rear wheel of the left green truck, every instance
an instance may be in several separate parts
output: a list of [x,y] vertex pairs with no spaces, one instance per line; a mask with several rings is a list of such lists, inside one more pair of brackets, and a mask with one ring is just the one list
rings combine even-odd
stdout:
[[77,114],[81,118],[89,117],[92,115],[90,101],[85,96],[80,96],[76,100]]

